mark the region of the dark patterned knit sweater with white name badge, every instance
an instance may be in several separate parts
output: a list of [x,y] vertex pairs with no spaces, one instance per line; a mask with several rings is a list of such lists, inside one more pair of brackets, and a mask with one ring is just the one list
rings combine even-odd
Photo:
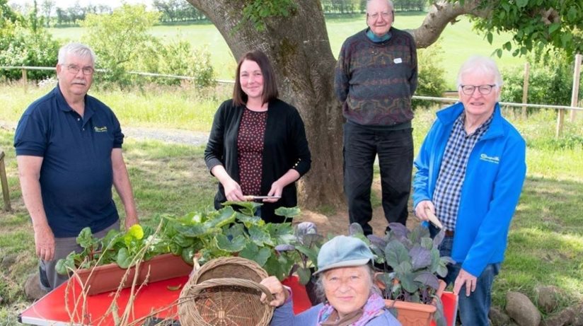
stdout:
[[334,89],[349,122],[395,126],[413,118],[411,96],[417,88],[417,52],[409,33],[391,28],[385,42],[373,42],[366,30],[342,44]]

